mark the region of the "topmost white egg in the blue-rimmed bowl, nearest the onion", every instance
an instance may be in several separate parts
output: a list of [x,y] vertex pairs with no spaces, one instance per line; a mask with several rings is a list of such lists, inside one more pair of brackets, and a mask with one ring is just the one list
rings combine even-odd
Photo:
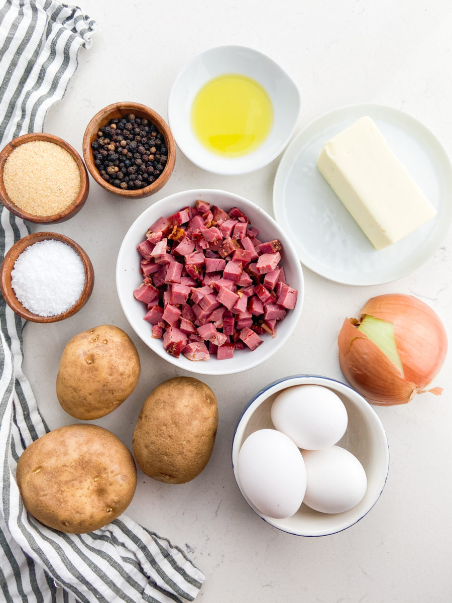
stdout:
[[299,448],[320,450],[336,444],[347,429],[347,410],[322,385],[294,385],[281,391],[271,408],[273,425]]

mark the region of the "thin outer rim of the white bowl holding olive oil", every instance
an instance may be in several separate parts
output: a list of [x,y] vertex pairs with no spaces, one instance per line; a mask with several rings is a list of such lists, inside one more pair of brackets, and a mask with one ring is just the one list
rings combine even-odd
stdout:
[[[210,54],[212,52],[218,52],[221,50],[231,51],[231,52],[245,50],[246,52],[251,52],[251,53],[255,54],[257,57],[259,57],[260,60],[271,63],[273,68],[278,69],[278,71],[280,71],[282,74],[284,74],[284,77],[287,78],[287,81],[289,81],[292,84],[293,91],[294,91],[295,95],[297,96],[297,115],[295,116],[295,119],[293,120],[293,125],[292,125],[289,135],[284,138],[283,142],[277,148],[277,150],[275,150],[272,154],[270,154],[265,160],[262,160],[259,163],[256,163],[255,165],[253,165],[249,168],[243,168],[243,169],[238,169],[238,170],[237,169],[234,169],[234,170],[227,169],[227,167],[218,168],[218,169],[207,168],[206,165],[202,161],[199,161],[196,159],[196,157],[193,157],[193,154],[190,152],[190,145],[185,145],[184,143],[181,144],[181,140],[177,134],[177,131],[175,131],[175,133],[174,133],[174,138],[176,140],[177,146],[180,148],[182,153],[190,160],[190,162],[192,162],[194,165],[198,166],[198,168],[201,168],[201,169],[206,170],[207,172],[210,172],[210,174],[218,174],[218,175],[251,174],[251,172],[255,172],[258,169],[261,169],[261,168],[265,167],[266,165],[268,165],[269,163],[271,163],[274,159],[276,159],[276,157],[278,157],[278,155],[280,155],[283,152],[284,148],[287,147],[287,144],[289,144],[289,140],[292,137],[293,131],[295,130],[295,127],[297,125],[297,121],[300,116],[300,110],[301,110],[301,94],[300,94],[300,89],[297,86],[297,83],[295,82],[295,80],[293,80],[292,77],[290,77],[290,75],[287,73],[287,71],[285,69],[283,69],[281,67],[281,65],[279,65],[279,63],[277,63],[274,59],[272,59],[265,53],[260,52],[259,50],[256,50],[255,48],[252,48],[251,46],[243,46],[243,45],[238,45],[238,44],[224,44],[224,45],[219,45],[219,46],[213,46],[212,48],[207,48],[206,50],[204,50],[202,52],[198,52],[198,54],[196,54],[195,56],[190,58],[190,60],[188,60],[180,68],[176,77],[174,78],[174,81],[171,85],[171,89],[169,90],[169,95],[168,95],[168,103],[167,103],[168,122],[169,122],[170,127],[173,128],[173,126],[171,124],[171,122],[173,122],[173,124],[174,124],[174,121],[172,120],[172,104],[174,103],[175,90],[177,89],[178,83],[181,80],[181,78],[183,77],[184,73],[187,71],[187,69],[190,69],[190,67],[196,61],[198,61],[202,56]],[[263,144],[265,144],[265,142]],[[219,165],[220,165],[221,156],[219,156],[218,159],[219,159]],[[227,162],[225,162],[225,166],[226,165],[227,165]]]

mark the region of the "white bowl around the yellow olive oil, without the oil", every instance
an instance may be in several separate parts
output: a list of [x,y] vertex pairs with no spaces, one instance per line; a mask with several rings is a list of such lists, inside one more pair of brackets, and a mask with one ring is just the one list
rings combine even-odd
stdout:
[[[267,91],[274,110],[273,127],[266,140],[252,153],[239,157],[210,153],[190,123],[196,94],[223,74],[253,78]],[[299,113],[300,92],[294,81],[271,58],[245,46],[218,46],[201,52],[181,69],[168,97],[168,122],[176,144],[195,165],[214,174],[246,174],[267,165],[289,142]]]

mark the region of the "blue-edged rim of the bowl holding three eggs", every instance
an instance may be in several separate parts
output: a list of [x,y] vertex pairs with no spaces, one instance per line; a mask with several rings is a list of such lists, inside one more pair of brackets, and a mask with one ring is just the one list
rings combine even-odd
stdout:
[[[240,423],[242,423],[245,415],[249,415],[249,416],[247,416],[246,423],[244,423],[244,425],[242,427],[242,432],[243,432],[243,431],[245,431],[246,425],[248,425],[248,420],[250,419],[251,415],[253,415],[254,411],[256,411],[256,409],[259,408],[259,406],[263,402],[265,402],[265,400],[268,399],[268,397],[271,396],[272,393],[281,391],[281,388],[278,388],[277,386],[280,384],[286,383],[287,384],[286,387],[291,387],[291,385],[289,385],[289,383],[292,381],[295,381],[295,383],[293,383],[292,385],[301,385],[301,384],[311,385],[311,384],[313,384],[313,385],[324,385],[325,387],[328,387],[327,384],[334,384],[334,385],[336,385],[336,390],[342,390],[341,393],[347,393],[348,395],[350,395],[350,393],[351,393],[352,396],[356,400],[360,400],[360,403],[362,403],[362,406],[360,406],[360,408],[362,408],[364,410],[364,412],[368,415],[368,417],[371,417],[372,422],[378,429],[380,437],[382,437],[382,440],[385,441],[385,443],[386,443],[386,446],[383,447],[383,452],[385,455],[385,458],[384,458],[385,464],[383,465],[384,469],[383,469],[382,473],[384,474],[384,479],[381,480],[382,481],[381,488],[380,488],[380,491],[378,492],[377,497],[375,498],[375,500],[372,502],[372,504],[370,506],[366,507],[365,513],[362,513],[360,515],[360,517],[357,517],[357,519],[354,519],[351,522],[345,522],[347,525],[344,524],[342,526],[339,526],[337,529],[334,529],[333,531],[331,531],[331,529],[324,529],[324,530],[316,530],[316,531],[312,531],[312,532],[293,532],[293,531],[290,531],[290,529],[283,528],[281,525],[277,525],[277,523],[280,522],[281,520],[272,519],[271,517],[264,516],[262,513],[260,513],[260,511],[257,510],[256,507],[254,507],[254,505],[250,502],[250,500],[248,500],[248,497],[246,497],[246,495],[243,493],[242,489],[240,488],[239,481],[237,478],[236,465],[237,465],[237,457],[239,454],[240,447],[238,444],[238,440],[236,438],[237,438],[237,431],[239,431],[239,428],[240,428]],[[301,383],[300,383],[300,381],[301,381]],[[271,393],[269,393],[269,390],[274,390],[274,391],[271,391]],[[240,414],[239,419],[237,420],[236,428],[234,429],[232,445],[231,445],[231,463],[232,463],[232,467],[233,467],[233,473],[234,473],[236,485],[237,485],[237,488],[239,488],[240,494],[242,494],[243,499],[245,499],[245,502],[248,504],[248,506],[251,508],[251,510],[253,510],[254,513],[256,513],[266,523],[268,523],[269,525],[271,525],[274,528],[279,529],[282,532],[286,532],[287,534],[292,534],[294,536],[303,536],[303,537],[309,537],[309,538],[320,537],[320,536],[330,536],[333,534],[338,534],[339,532],[342,532],[345,529],[348,529],[351,526],[355,525],[357,522],[362,520],[363,517],[365,517],[369,513],[369,511],[375,506],[375,504],[377,504],[378,499],[380,499],[381,493],[385,489],[386,481],[388,479],[389,442],[388,442],[388,437],[386,435],[385,428],[383,427],[383,423],[381,423],[380,417],[378,417],[377,412],[375,411],[374,408],[372,408],[372,405],[365,399],[365,397],[363,397],[359,392],[354,390],[353,387],[351,387],[348,384],[345,384],[342,381],[339,381],[338,379],[333,379],[332,377],[326,377],[323,375],[294,374],[294,375],[290,375],[287,377],[281,377],[280,379],[277,379],[277,380],[269,383],[264,388],[262,388],[262,390],[258,391],[253,396],[253,398],[250,400],[250,402],[246,403],[245,408],[243,408],[243,411]]]

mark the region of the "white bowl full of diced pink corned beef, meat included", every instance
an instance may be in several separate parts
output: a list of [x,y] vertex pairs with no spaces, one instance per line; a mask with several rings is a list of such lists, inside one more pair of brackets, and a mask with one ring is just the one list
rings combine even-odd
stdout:
[[124,237],[116,286],[143,342],[201,374],[265,362],[293,332],[304,295],[300,260],[274,219],[214,189],[148,207]]

